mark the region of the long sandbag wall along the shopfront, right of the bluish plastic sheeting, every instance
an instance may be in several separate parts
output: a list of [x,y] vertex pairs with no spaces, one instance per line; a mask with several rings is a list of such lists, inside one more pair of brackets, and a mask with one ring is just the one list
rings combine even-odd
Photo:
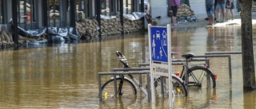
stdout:
[[[124,18],[124,33],[134,33],[141,30],[143,27],[142,19],[139,20],[129,20]],[[76,22],[76,29],[81,34],[81,36],[97,36],[98,33],[98,21],[95,19],[82,19],[80,22]],[[114,35],[122,33],[122,25],[120,23],[120,18],[111,19],[101,19],[101,32],[102,35]]]

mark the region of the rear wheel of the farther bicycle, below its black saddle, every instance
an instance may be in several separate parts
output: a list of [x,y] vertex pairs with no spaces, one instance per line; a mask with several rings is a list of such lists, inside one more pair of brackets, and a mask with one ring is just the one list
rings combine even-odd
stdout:
[[[185,80],[183,77],[182,80]],[[206,67],[194,66],[188,70],[188,86],[201,88],[215,88],[214,73]]]

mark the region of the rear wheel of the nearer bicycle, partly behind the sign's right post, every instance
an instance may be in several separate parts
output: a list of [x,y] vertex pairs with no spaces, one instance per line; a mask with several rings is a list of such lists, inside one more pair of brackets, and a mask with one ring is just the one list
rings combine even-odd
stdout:
[[[169,88],[168,88],[168,78],[162,77],[163,80],[163,91],[161,90],[161,77],[158,77],[154,81],[155,85],[155,95],[162,96],[162,92],[164,96],[168,96]],[[172,76],[172,84],[173,84],[173,92],[175,97],[183,97],[187,96],[187,90],[185,85],[183,84],[183,80],[178,76]]]

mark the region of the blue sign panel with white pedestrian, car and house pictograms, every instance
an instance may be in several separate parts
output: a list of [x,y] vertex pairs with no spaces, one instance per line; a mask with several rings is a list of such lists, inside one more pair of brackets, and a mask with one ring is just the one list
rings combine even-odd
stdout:
[[158,62],[168,62],[168,43],[166,27],[151,27],[151,59]]

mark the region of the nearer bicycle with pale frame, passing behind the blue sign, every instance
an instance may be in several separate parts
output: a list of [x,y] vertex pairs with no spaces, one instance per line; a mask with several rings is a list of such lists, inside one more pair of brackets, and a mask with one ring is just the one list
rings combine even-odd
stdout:
[[[130,68],[128,61],[126,60],[126,57],[124,55],[122,55],[122,53],[120,52],[116,52],[117,56],[119,57],[119,65],[121,64],[123,66],[123,68]],[[131,74],[128,74],[128,76],[130,77],[127,78],[124,75],[119,75],[116,77],[116,88],[117,88],[117,95],[115,95],[115,91],[114,91],[114,78],[111,78],[110,80],[106,81],[105,84],[102,85],[102,102],[111,102],[114,99],[116,99],[116,97],[122,97],[122,101],[124,103],[130,103],[133,102],[134,99],[137,98],[136,94],[137,94],[137,88],[135,87],[136,85],[141,89],[141,91],[147,94],[147,91],[145,88],[142,87],[142,84],[140,84],[138,82],[138,80],[135,79],[135,77]],[[162,91],[159,91],[158,89],[161,88],[159,85],[161,78],[159,76],[155,76],[154,77],[154,87],[156,88],[155,92],[156,95],[162,95],[160,93],[162,93]],[[165,81],[165,80],[163,80]],[[135,84],[136,85],[135,85]],[[163,82],[164,84],[163,89],[164,89],[164,93],[163,95],[167,95],[168,94],[168,82]],[[187,96],[187,90],[185,85],[183,84],[183,80],[180,79],[178,76],[172,75],[172,84],[173,84],[173,93],[175,96]]]

